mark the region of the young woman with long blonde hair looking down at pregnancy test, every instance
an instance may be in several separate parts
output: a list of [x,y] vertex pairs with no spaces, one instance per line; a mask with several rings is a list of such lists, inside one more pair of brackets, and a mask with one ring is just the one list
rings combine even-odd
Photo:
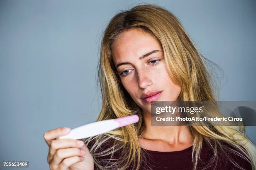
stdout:
[[[98,65],[102,110],[97,121],[133,114],[140,120],[82,139],[82,145],[79,140],[56,139],[69,133],[65,128],[47,131],[50,169],[255,169],[255,145],[239,127],[200,122],[151,126],[154,99],[216,100],[216,86],[205,61],[177,18],[164,8],[138,5],[115,15],[102,38]],[[145,95],[159,97],[145,99]]]

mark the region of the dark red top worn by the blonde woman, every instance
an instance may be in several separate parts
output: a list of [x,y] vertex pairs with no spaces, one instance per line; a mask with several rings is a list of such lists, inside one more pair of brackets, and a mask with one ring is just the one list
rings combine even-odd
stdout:
[[[90,149],[90,146],[88,146],[88,148]],[[102,149],[104,148],[105,147],[103,147]],[[234,149],[234,148],[230,146],[230,149]],[[141,164],[141,170],[149,170],[150,168],[152,168],[152,170],[192,170],[193,169],[192,146],[184,150],[174,151],[174,152],[159,152],[159,151],[152,151],[152,150],[145,150],[145,149],[142,149],[142,151],[144,153],[143,154],[145,156],[144,160],[146,160],[146,162],[144,161]],[[111,159],[113,158],[126,159],[125,156],[123,156],[120,153],[121,152],[116,152],[114,154],[114,157],[112,157]],[[251,164],[248,163],[243,158],[233,153],[229,153],[227,151],[225,155],[220,150],[218,150],[218,162],[209,164],[209,161],[212,158],[212,155],[213,155],[213,151],[210,150],[210,147],[208,147],[205,143],[203,143],[202,151],[200,154],[201,160],[197,164],[197,170],[202,170],[203,168],[206,168],[209,165],[211,166],[205,170],[240,170],[235,165],[233,165],[233,163],[230,163],[230,160],[228,158],[231,158],[233,162],[237,163],[245,170],[252,170]],[[109,158],[110,158],[109,156],[103,156],[103,157],[98,157],[98,160],[102,161],[101,165],[105,165],[105,163],[108,163]],[[148,168],[147,166],[150,168]],[[95,166],[95,170],[97,169],[98,168]],[[131,170],[131,169],[133,168],[129,168],[128,170]]]

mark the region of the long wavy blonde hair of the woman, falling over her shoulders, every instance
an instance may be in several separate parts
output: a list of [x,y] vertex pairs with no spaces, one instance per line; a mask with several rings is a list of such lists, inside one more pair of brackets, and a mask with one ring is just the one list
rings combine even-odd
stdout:
[[[164,7],[150,4],[137,5],[130,10],[120,11],[110,20],[102,37],[98,63],[102,108],[97,121],[133,114],[141,118],[136,124],[83,139],[88,145],[94,141],[89,149],[94,157],[95,165],[102,170],[138,170],[142,165],[146,165],[143,163],[146,161],[143,150],[138,143],[138,136],[145,128],[143,112],[123,87],[113,64],[111,52],[113,42],[118,35],[132,28],[150,33],[161,43],[169,75],[175,84],[182,87],[178,98],[180,101],[216,101],[219,96],[219,88],[208,68],[208,64],[214,62],[210,62],[200,54],[179,20],[172,13]],[[231,152],[248,160],[255,168],[256,148],[246,137],[244,126],[204,126],[197,122],[189,128],[194,138],[192,149],[194,170],[200,160],[203,141],[214,152],[212,158],[209,159],[208,168],[210,166],[214,168],[217,165],[218,150],[230,150],[230,148],[225,148],[223,142],[236,148],[231,149]],[[110,140],[114,142],[110,147],[104,148]],[[99,148],[104,149],[99,152]],[[116,152],[121,153],[119,158],[114,157]],[[100,159],[104,156],[109,156],[109,159]],[[234,161],[231,160],[231,162],[239,167]]]

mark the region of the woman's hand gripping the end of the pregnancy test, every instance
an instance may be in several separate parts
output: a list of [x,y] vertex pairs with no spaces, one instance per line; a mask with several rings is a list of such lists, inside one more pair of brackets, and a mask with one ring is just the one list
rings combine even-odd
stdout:
[[50,170],[93,170],[92,155],[82,140],[56,139],[69,132],[70,128],[57,128],[44,133],[49,146],[47,162]]

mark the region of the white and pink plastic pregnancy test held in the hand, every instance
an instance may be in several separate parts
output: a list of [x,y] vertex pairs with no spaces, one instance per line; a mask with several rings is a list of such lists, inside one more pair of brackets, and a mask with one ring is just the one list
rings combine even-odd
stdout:
[[138,115],[131,115],[126,117],[120,117],[117,119],[102,120],[98,122],[89,123],[87,125],[74,128],[69,134],[60,136],[57,139],[82,139],[89,138],[91,136],[100,135],[110,130],[120,128],[126,125],[130,125],[138,122]]

